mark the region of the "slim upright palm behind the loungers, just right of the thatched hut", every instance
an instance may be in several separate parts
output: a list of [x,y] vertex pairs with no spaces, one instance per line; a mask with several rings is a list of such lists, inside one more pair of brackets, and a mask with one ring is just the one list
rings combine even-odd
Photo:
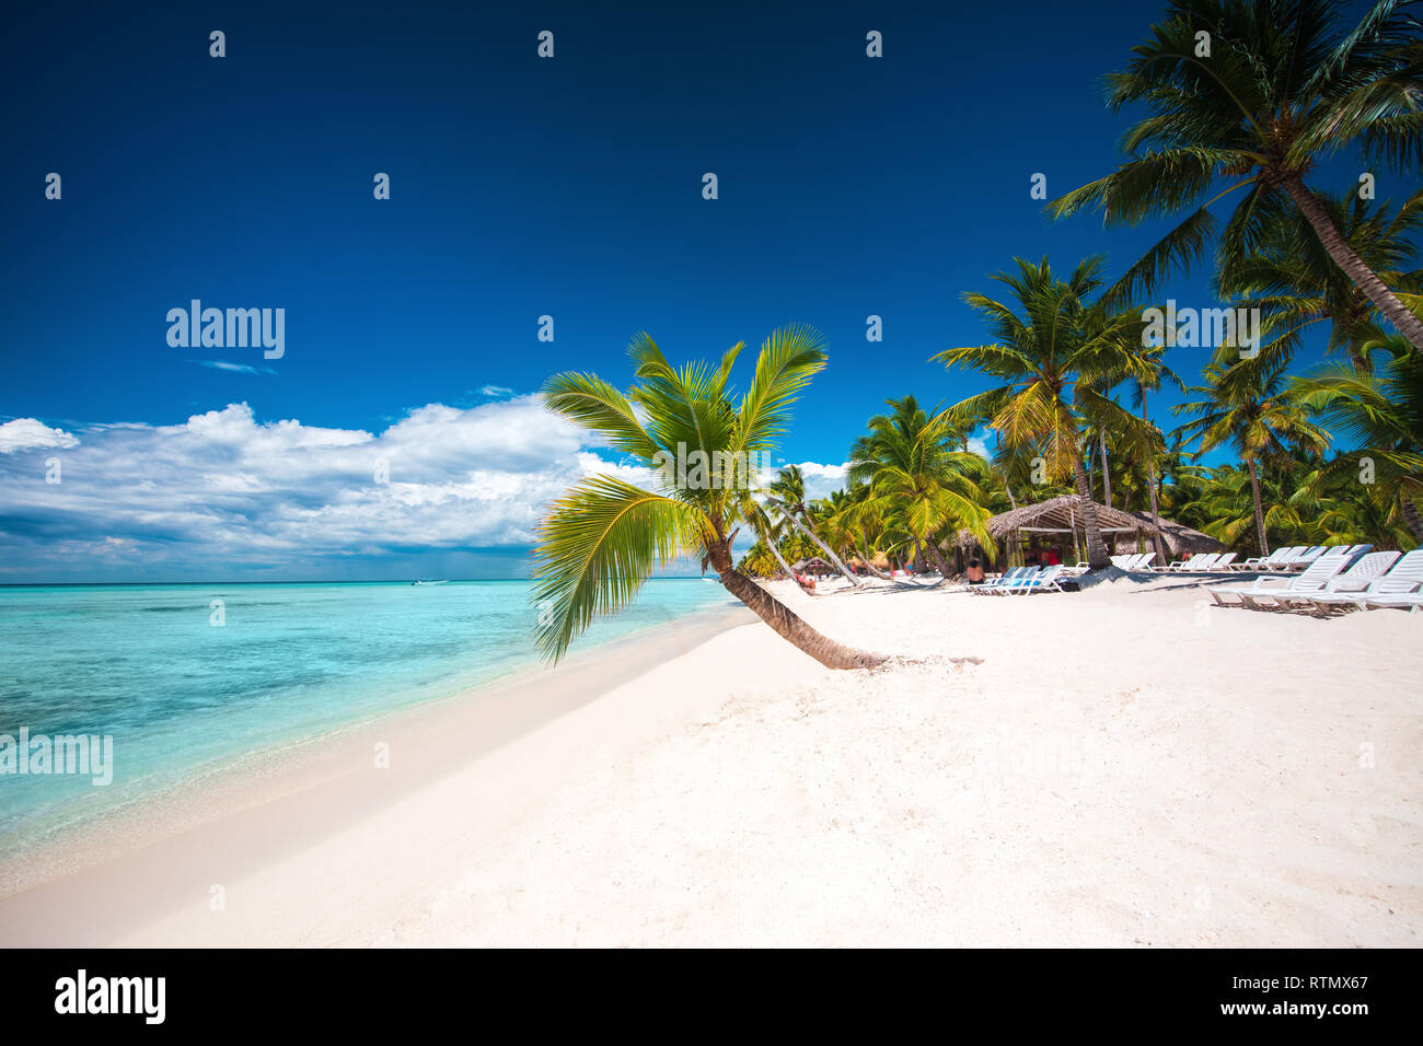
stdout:
[[1285,363],[1258,356],[1231,367],[1211,364],[1205,384],[1187,390],[1202,398],[1174,407],[1177,414],[1195,414],[1180,427],[1187,440],[1198,440],[1195,460],[1229,441],[1249,472],[1255,508],[1255,538],[1261,555],[1269,555],[1265,509],[1259,491],[1259,468],[1266,460],[1284,460],[1291,450],[1321,453],[1329,434],[1309,420],[1303,401],[1285,384]]

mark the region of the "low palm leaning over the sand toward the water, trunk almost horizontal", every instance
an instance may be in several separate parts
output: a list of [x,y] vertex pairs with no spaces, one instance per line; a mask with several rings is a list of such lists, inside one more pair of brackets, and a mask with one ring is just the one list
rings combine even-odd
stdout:
[[655,470],[650,488],[588,477],[539,522],[536,640],[551,660],[595,616],[626,606],[655,569],[687,555],[703,569],[710,565],[729,592],[821,665],[858,669],[884,660],[827,639],[733,565],[731,541],[748,518],[760,460],[774,448],[791,403],[825,366],[817,332],[777,330],[733,403],[731,367],[741,349],[737,343],[716,366],[679,370],[639,334],[629,346],[638,383],[628,391],[596,374],[564,373],[545,384],[549,408]]

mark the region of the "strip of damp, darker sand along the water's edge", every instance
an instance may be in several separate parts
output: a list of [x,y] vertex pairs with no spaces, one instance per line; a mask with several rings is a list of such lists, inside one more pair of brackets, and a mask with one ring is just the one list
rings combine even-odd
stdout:
[[[164,898],[179,878],[175,870],[191,878],[184,855],[202,851],[205,840],[218,842],[228,830],[275,823],[282,811],[303,807],[306,831],[259,831],[269,845],[238,855],[226,874],[280,860],[747,620],[754,615],[740,605],[692,611],[575,652],[554,669],[518,666],[447,697],[279,743],[218,768],[195,768],[194,777],[100,820],[57,828],[38,842],[41,852],[0,865],[0,946],[57,944],[37,918],[46,911],[54,925],[92,925],[91,939],[64,942],[71,945],[97,944],[159,916],[171,907]],[[388,768],[379,774],[377,741],[390,753]],[[107,875],[118,879],[121,902],[105,888]],[[84,918],[68,914],[75,907],[87,909]],[[17,931],[21,922],[26,929]]]

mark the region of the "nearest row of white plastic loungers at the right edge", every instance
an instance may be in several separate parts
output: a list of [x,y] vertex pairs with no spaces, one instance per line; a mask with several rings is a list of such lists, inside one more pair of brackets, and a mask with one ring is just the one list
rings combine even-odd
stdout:
[[[1318,556],[1303,574],[1257,578],[1249,585],[1221,585],[1207,592],[1220,606],[1281,609],[1308,606],[1319,613],[1333,608],[1375,609],[1397,606],[1412,612],[1423,609],[1423,549],[1400,558],[1397,552],[1369,552],[1338,545]],[[1238,602],[1234,602],[1238,601]]]

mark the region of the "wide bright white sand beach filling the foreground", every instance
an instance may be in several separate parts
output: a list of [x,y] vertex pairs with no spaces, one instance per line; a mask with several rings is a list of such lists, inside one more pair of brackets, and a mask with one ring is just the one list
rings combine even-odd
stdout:
[[776,591],[915,660],[831,672],[750,615],[680,653],[645,633],[552,673],[542,722],[445,702],[14,892],[0,942],[1420,942],[1423,615],[1217,609],[1183,578]]

